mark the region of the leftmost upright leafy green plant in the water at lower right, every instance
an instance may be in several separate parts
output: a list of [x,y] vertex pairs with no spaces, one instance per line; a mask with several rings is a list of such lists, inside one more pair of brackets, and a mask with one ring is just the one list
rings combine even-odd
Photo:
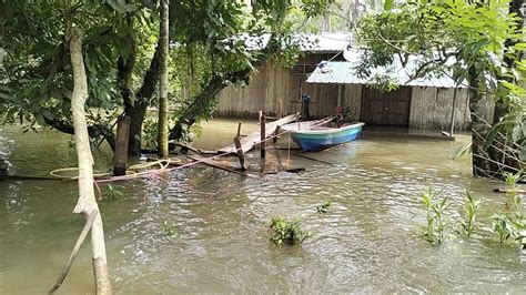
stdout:
[[426,207],[427,226],[424,236],[431,243],[443,244],[446,238],[446,231],[449,227],[449,217],[446,210],[451,203],[447,197],[442,201],[435,200],[439,193],[429,187],[422,194],[422,202]]

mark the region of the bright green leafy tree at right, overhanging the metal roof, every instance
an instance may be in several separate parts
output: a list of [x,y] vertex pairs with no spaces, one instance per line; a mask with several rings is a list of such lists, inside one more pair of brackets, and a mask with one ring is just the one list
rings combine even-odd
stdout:
[[[358,35],[367,50],[358,68],[368,77],[370,67],[388,67],[395,57],[405,63],[416,55],[415,78],[439,72],[451,74],[457,84],[467,83],[473,174],[495,176],[500,171],[495,171],[494,163],[519,170],[524,162],[519,160],[517,146],[526,134],[512,136],[510,131],[517,121],[524,122],[525,96],[520,88],[503,79],[514,77],[514,81],[520,81],[520,72],[505,62],[508,59],[512,64],[519,64],[515,53],[524,47],[518,20],[515,13],[508,13],[508,1],[408,2],[362,21]],[[506,48],[509,40],[516,44]],[[506,115],[514,118],[513,126],[492,129],[492,122],[483,120],[481,101],[488,94],[509,106]],[[503,119],[503,114],[499,115],[497,121]],[[494,140],[498,131],[509,140],[510,144],[504,146],[509,148],[505,153],[513,156],[513,162],[503,163],[503,159],[488,153],[489,146],[496,146]]]

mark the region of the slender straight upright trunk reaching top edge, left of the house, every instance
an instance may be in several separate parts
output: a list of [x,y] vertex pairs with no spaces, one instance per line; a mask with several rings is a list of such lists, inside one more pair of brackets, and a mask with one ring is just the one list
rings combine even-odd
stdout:
[[161,48],[161,69],[159,73],[158,152],[159,156],[162,159],[168,157],[168,2],[169,0],[161,0],[161,28],[159,34],[159,45]]

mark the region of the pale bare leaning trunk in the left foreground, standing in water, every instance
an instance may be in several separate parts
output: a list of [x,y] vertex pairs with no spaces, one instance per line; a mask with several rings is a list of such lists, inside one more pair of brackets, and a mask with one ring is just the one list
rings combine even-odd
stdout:
[[[74,142],[79,162],[79,201],[73,213],[81,213],[84,216],[89,216],[93,211],[99,212],[99,206],[93,191],[93,156],[90,149],[84,111],[85,100],[88,99],[88,82],[84,60],[82,58],[82,32],[73,28],[70,30],[70,54],[74,83],[71,109],[73,113]],[[111,294],[111,282],[105,256],[104,231],[100,213],[97,214],[93,225],[91,226],[91,250],[97,294]]]

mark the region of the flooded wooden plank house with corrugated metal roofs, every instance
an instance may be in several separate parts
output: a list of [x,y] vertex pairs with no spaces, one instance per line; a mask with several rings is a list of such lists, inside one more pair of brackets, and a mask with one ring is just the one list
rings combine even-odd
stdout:
[[[295,113],[301,111],[301,95],[305,93],[311,95],[310,114],[314,118],[333,114],[334,109],[342,105],[351,108],[352,121],[367,125],[449,130],[453,121],[454,130],[467,130],[467,89],[456,87],[451,78],[412,80],[405,70],[397,69],[388,74],[394,75],[393,80],[401,87],[384,92],[371,88],[368,80],[360,79],[353,61],[347,61],[348,57],[344,59],[350,44],[347,34],[323,33],[315,38],[318,42],[304,49],[304,57],[294,67],[285,69],[267,62],[251,77],[247,87],[229,87],[221,91],[215,114],[255,118],[260,110],[271,116]],[[360,57],[356,52],[351,55],[352,59]],[[328,70],[322,71],[318,67],[322,61],[326,61],[323,64]],[[487,98],[485,105],[485,116],[492,121],[494,103]]]

